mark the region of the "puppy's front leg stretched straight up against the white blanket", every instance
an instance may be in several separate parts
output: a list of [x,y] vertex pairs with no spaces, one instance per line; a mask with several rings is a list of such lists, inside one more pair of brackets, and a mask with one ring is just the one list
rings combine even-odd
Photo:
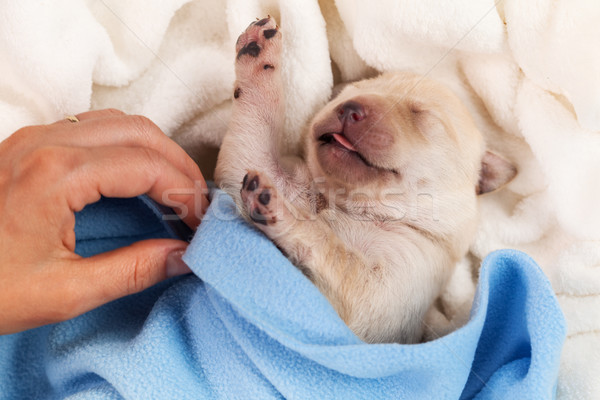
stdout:
[[221,146],[215,179],[239,199],[246,170],[282,176],[278,155],[284,105],[280,74],[281,33],[273,18],[253,22],[236,43],[233,113]]

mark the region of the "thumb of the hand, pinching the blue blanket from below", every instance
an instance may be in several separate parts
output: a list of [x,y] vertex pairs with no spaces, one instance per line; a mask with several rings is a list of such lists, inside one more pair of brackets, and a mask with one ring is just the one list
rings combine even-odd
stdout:
[[85,298],[82,312],[111,300],[140,292],[166,278],[192,272],[181,256],[187,243],[150,239],[78,260]]

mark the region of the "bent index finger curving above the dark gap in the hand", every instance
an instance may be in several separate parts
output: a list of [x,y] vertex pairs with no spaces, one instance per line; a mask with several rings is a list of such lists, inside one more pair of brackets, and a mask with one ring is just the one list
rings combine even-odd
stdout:
[[73,211],[100,196],[135,197],[148,194],[169,206],[191,228],[196,228],[208,206],[204,181],[195,181],[175,168],[162,154],[140,147],[71,149],[79,167],[73,168],[62,190]]

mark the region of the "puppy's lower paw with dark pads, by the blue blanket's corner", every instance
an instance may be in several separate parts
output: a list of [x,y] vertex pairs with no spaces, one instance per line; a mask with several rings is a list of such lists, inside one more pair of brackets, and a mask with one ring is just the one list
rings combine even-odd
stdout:
[[277,191],[260,172],[249,171],[244,176],[240,194],[248,216],[254,223],[266,227],[279,221]]

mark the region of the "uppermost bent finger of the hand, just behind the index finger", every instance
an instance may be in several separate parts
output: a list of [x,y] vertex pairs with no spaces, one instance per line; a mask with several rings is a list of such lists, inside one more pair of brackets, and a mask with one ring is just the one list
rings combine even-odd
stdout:
[[[164,134],[156,124],[140,115],[125,115],[118,110],[91,111],[81,114],[78,123],[62,126],[60,132],[48,135],[62,146],[141,146],[156,150],[191,179],[204,182],[198,165]],[[66,129],[65,129],[66,128]]]

